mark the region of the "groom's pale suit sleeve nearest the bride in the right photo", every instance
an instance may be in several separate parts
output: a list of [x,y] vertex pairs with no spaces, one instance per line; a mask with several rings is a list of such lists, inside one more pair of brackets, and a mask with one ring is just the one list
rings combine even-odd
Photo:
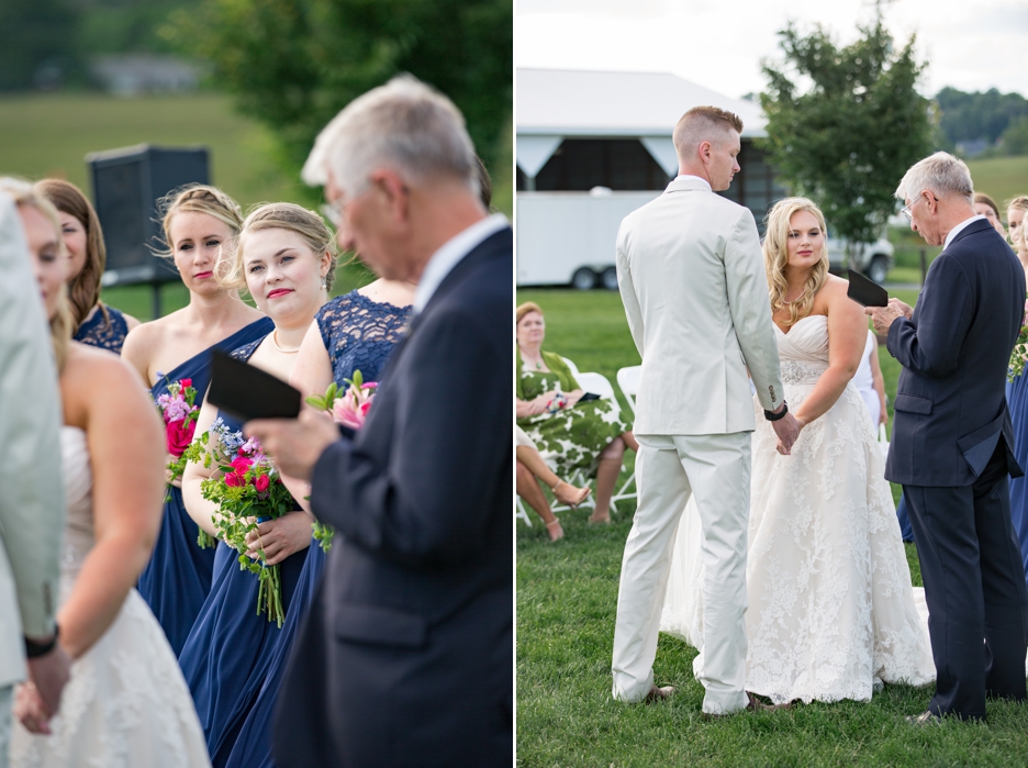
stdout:
[[784,389],[760,238],[753,214],[745,209],[725,245],[725,279],[731,323],[757,388],[757,399],[766,411],[773,411],[782,404]]

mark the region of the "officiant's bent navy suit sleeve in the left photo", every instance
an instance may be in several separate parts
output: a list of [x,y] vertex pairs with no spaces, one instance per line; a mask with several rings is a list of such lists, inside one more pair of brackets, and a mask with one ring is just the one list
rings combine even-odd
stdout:
[[[406,349],[410,374],[390,393],[395,420],[386,465],[346,439],[319,459],[314,512],[347,542],[414,567],[481,550],[492,523],[488,504],[502,494],[500,485],[510,485],[513,468],[503,396],[511,356],[482,327],[492,322],[500,315],[483,321],[454,312],[418,329],[431,342]],[[373,428],[373,415],[365,428]]]

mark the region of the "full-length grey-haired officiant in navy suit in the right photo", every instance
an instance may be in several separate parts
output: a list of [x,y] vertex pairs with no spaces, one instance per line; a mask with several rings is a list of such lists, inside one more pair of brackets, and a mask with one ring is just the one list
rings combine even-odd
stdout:
[[1028,590],[1007,479],[1023,471],[1004,391],[1025,272],[972,194],[968,166],[946,153],[906,172],[903,212],[942,253],[917,309],[868,310],[903,366],[885,477],[909,509],[938,675],[916,724],[984,719],[986,697],[1026,698]]

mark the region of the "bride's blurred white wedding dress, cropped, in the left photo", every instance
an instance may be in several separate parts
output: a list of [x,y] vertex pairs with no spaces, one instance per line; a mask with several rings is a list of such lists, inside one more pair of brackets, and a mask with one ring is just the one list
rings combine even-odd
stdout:
[[[86,433],[60,432],[68,517],[60,600],[93,545],[92,470]],[[126,468],[127,471],[127,468]],[[49,736],[21,723],[11,735],[12,768],[194,768],[210,766],[189,688],[164,632],[135,589],[118,617],[75,660],[51,720]]]

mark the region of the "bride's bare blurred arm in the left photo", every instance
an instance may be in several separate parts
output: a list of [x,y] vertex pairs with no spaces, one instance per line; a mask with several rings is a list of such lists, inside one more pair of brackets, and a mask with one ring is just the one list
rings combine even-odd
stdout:
[[57,616],[60,644],[77,658],[114,622],[150,556],[165,493],[164,431],[118,358],[76,355],[62,392],[66,422],[85,425],[93,474],[96,542]]

